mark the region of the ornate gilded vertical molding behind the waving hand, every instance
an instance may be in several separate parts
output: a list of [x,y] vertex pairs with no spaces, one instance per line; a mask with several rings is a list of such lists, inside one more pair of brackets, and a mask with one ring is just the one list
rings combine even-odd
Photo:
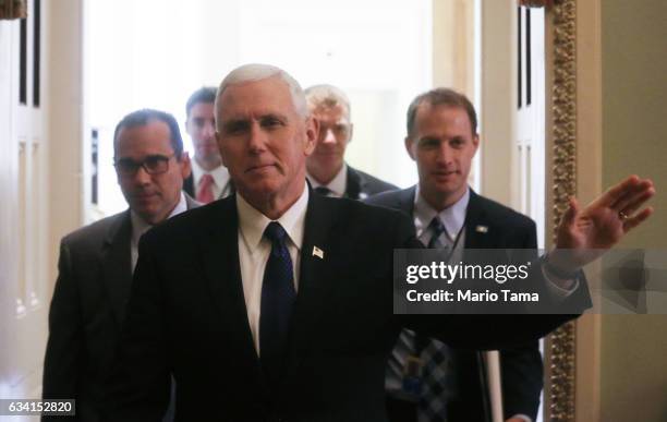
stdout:
[[[554,230],[577,193],[577,34],[575,0],[559,0],[551,9],[554,23],[553,85],[553,216]],[[555,238],[555,232],[554,232]],[[574,421],[575,324],[570,322],[554,331],[546,342],[548,351],[548,409],[545,420]]]

